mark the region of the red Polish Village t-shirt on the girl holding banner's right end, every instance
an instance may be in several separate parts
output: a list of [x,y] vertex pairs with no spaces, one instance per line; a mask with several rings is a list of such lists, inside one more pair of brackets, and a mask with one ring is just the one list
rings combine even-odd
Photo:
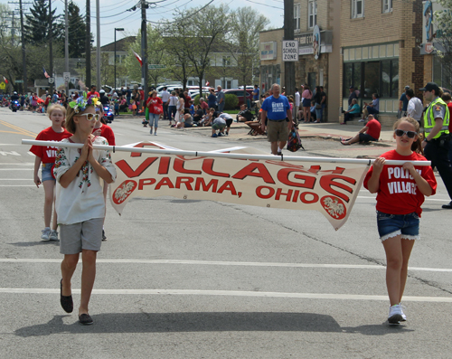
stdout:
[[[395,149],[386,152],[381,157],[387,160],[400,161],[426,161],[424,156],[413,152],[410,156],[400,156]],[[431,194],[437,192],[437,180],[429,165],[417,165],[416,170],[432,189]],[[364,178],[364,187],[369,189],[368,182],[372,176],[373,166]],[[417,213],[420,217],[424,203],[424,194],[421,194],[410,172],[403,170],[401,165],[384,165],[380,175],[380,185],[377,192],[377,211],[388,214]]]

